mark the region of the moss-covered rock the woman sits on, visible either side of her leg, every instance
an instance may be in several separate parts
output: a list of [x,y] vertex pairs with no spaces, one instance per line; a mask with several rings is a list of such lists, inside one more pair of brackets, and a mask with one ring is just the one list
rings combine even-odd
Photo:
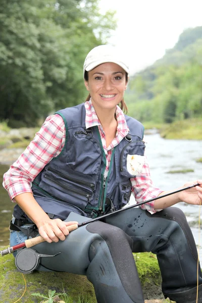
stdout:
[[[1,249],[5,249],[5,247]],[[156,256],[144,252],[134,254],[134,259],[142,284],[145,303],[174,303],[163,298],[161,275]],[[22,275],[16,269],[13,255],[0,257],[0,272],[0,302],[15,302],[21,296],[21,303],[44,302],[44,298],[35,296],[33,293],[48,296],[48,291],[51,290],[55,290],[56,294],[67,293],[70,302],[96,302],[93,286],[85,276],[63,272],[38,271]]]

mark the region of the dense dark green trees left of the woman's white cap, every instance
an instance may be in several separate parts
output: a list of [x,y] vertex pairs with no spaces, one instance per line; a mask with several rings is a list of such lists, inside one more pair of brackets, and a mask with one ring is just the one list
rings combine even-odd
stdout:
[[98,0],[2,0],[0,120],[34,126],[83,102],[84,58],[115,26],[113,12],[99,14]]

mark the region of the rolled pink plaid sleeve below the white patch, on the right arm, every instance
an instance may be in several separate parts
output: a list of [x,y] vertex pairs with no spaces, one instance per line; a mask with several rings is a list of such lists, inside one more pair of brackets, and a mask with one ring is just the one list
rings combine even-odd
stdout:
[[[135,197],[136,203],[140,203],[151,198],[157,197],[163,190],[154,186],[151,178],[150,171],[147,162],[147,158],[145,157],[145,162],[141,170],[141,174],[137,175],[135,178],[131,178],[132,184],[132,193]],[[140,205],[140,208],[143,210],[147,210],[150,214],[155,214],[161,210],[154,209],[155,201],[151,201],[149,203]]]

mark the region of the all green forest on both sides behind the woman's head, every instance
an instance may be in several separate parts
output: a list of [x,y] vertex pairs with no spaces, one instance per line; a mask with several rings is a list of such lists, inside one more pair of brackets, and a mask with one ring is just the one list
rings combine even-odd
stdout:
[[[109,41],[115,12],[99,0],[0,0],[0,122],[36,126],[58,109],[84,102],[82,67]],[[149,52],[149,49],[148,49]],[[128,114],[142,123],[200,119],[202,26],[184,30],[163,58],[130,76]]]

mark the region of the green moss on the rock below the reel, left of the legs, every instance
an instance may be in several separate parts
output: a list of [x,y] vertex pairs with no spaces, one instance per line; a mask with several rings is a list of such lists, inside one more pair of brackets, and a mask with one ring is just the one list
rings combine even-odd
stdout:
[[[6,255],[1,259],[0,272],[0,302],[11,303],[18,300],[24,292],[25,281],[22,273],[17,271],[12,255]],[[20,300],[21,303],[40,302],[41,299],[33,296],[32,293],[47,295],[49,289],[66,292],[74,302],[78,302],[79,294],[89,303],[96,302],[93,286],[85,276],[35,271],[24,277],[27,286]]]

